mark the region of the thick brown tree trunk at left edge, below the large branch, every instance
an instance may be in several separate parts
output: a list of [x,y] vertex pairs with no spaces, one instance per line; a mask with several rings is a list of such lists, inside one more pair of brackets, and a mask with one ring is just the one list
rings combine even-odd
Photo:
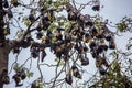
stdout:
[[7,70],[8,74],[8,58],[9,58],[10,47],[6,43],[3,47],[0,47],[0,88],[3,88],[2,74],[3,70]]

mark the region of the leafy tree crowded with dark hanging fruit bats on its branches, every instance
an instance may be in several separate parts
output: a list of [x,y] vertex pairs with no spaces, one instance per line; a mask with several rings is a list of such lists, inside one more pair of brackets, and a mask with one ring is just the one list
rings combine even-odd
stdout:
[[[131,66],[129,56],[132,53],[118,51],[114,35],[118,35],[118,32],[131,32],[132,19],[123,18],[120,23],[116,24],[117,32],[112,32],[107,26],[109,20],[102,21],[100,15],[82,14],[81,10],[86,6],[91,6],[94,11],[101,9],[99,0],[80,4],[79,8],[75,0],[31,0],[30,4],[25,4],[21,0],[0,0],[0,88],[10,82],[8,76],[9,54],[13,52],[19,55],[23,48],[30,48],[31,56],[28,59],[38,59],[36,64],[41,77],[30,85],[31,88],[43,88],[44,85],[51,85],[52,88],[55,88],[64,82],[66,85],[74,84],[74,77],[82,79],[82,73],[86,70],[82,70],[81,67],[89,65],[88,53],[91,54],[99,72],[95,76],[100,76],[99,79],[92,78],[91,88],[99,86],[131,88],[130,76],[122,72],[121,59],[128,58],[129,66],[125,69],[130,74],[131,72],[128,70]],[[22,9],[21,12],[16,12],[16,16],[13,12],[14,8]],[[30,10],[26,18],[23,16],[25,10]],[[66,15],[59,15],[62,12]],[[13,24],[11,19],[14,19],[16,23]],[[20,22],[25,26],[24,30]],[[16,38],[7,38],[12,26],[18,26]],[[131,46],[130,38],[128,51],[131,50]],[[56,75],[51,82],[43,80],[43,73],[38,64],[40,61],[44,62],[47,55],[46,48],[51,50],[57,62],[54,66]],[[110,62],[107,59],[107,52],[113,57]],[[123,58],[120,57],[121,55]],[[24,64],[19,65],[16,62],[14,64],[12,68],[15,74],[12,78],[15,86],[21,87],[23,85],[21,80],[31,77],[33,73],[24,67]],[[62,68],[58,72],[59,67]],[[63,79],[58,79],[61,74],[65,76]],[[85,81],[81,87],[87,86],[92,80]],[[80,88],[80,86],[76,86],[76,88]]]

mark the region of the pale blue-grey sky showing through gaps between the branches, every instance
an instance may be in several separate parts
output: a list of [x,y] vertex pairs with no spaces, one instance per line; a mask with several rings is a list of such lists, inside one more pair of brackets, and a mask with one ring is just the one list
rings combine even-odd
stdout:
[[[76,0],[76,1],[78,1],[78,3],[86,3],[89,0]],[[112,23],[119,22],[125,15],[132,16],[132,4],[131,4],[132,0],[100,0],[100,1],[101,1],[101,6],[103,6],[103,8],[98,13],[101,16],[103,16],[105,19],[109,19],[109,21],[112,21]],[[95,13],[97,13],[97,12],[91,11],[90,9],[91,9],[90,7],[86,7],[82,10],[82,13],[84,14],[95,14]],[[111,29],[111,30],[114,31],[116,29]],[[119,48],[122,48],[122,46],[124,47],[124,45],[128,43],[127,40],[131,36],[130,33],[124,33],[122,35],[123,36],[120,36],[120,37],[117,36],[116,37],[116,41],[118,43],[117,46]],[[13,36],[10,36],[10,37],[13,37]],[[25,52],[26,52],[26,50],[23,50],[22,54],[19,55],[19,61],[18,61],[19,63],[23,63],[30,56],[29,52],[26,52],[26,53]],[[52,53],[50,53],[48,48],[47,48],[46,53],[47,53],[47,56],[46,56],[45,61],[48,62],[48,63],[54,62],[55,56]],[[9,61],[9,68],[11,67],[11,65],[14,61],[15,61],[14,55],[11,53],[10,54],[10,61]],[[33,59],[33,61],[34,61],[34,63],[32,65],[32,70],[35,69],[35,72],[37,72],[36,70],[36,63],[35,63],[35,62],[37,62],[37,59]],[[91,63],[92,62],[90,62],[90,65],[88,67],[86,67],[86,69],[88,69],[90,73],[95,73],[96,72],[95,65],[91,64]],[[30,62],[28,62],[26,66],[29,66],[29,64],[30,64]],[[51,76],[54,76],[53,70],[54,69],[47,68],[47,67],[43,68],[43,74],[45,76],[45,80],[48,80],[51,78]],[[14,72],[12,72],[10,74],[10,76],[12,76],[13,74],[14,74]],[[23,82],[25,85],[31,84],[35,78],[40,77],[40,74],[35,73],[34,76],[35,77],[26,79]],[[86,76],[86,78],[89,78],[90,76],[91,75]],[[29,80],[31,82],[29,82]],[[14,88],[13,80],[11,79],[11,84],[4,86],[4,88]],[[23,88],[23,87],[20,87],[20,88]]]

